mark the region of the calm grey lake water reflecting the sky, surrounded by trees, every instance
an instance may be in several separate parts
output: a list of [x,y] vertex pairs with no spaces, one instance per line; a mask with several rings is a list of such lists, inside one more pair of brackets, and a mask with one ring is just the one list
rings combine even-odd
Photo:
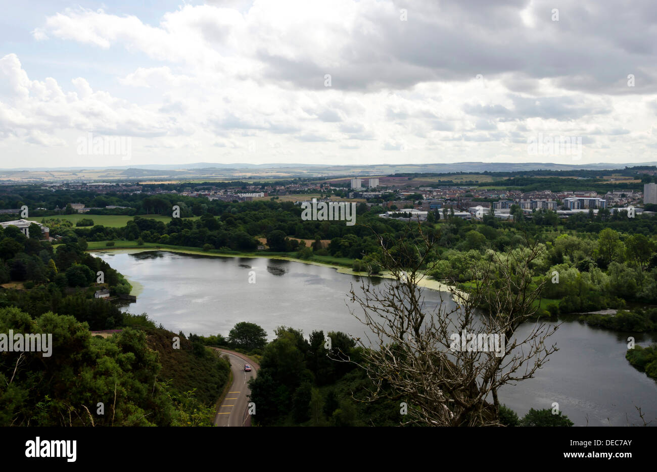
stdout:
[[[248,321],[262,326],[269,339],[278,326],[300,329],[306,336],[313,330],[365,333],[350,313],[357,305],[347,296],[351,284],[359,287],[360,278],[334,268],[166,251],[94,255],[143,286],[137,302],[127,306],[127,311],[147,312],[173,332],[228,335],[235,324]],[[255,274],[255,284],[249,283],[251,274]],[[439,292],[423,293],[428,309],[440,303]],[[443,299],[449,297],[443,294]],[[530,332],[532,326],[524,324],[518,335]],[[576,425],[593,426],[643,424],[638,406],[646,421],[657,425],[657,383],[625,360],[629,335],[643,346],[657,341],[650,335],[564,321],[549,337],[549,345],[556,343],[559,350],[534,378],[505,387],[501,401],[519,416],[530,408],[552,408],[553,402],[558,402]]]

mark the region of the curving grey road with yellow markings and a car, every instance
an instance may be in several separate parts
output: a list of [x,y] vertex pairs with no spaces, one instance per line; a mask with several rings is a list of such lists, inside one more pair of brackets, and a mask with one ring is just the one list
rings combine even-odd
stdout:
[[[256,377],[258,364],[253,364],[248,359],[240,357],[239,354],[231,351],[221,351],[221,355],[226,354],[231,360],[231,370],[233,371],[233,383],[228,389],[226,397],[221,402],[219,412],[214,419],[215,426],[250,426],[251,417],[248,414],[248,402],[251,391],[247,382],[249,379]],[[251,372],[244,372],[244,364],[250,364]]]

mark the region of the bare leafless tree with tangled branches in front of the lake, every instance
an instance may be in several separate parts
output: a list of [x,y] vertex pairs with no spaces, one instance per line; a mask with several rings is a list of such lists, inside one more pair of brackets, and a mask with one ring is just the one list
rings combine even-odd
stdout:
[[[401,425],[501,425],[499,389],[533,377],[556,351],[545,340],[558,326],[537,320],[528,334],[517,332],[536,311],[543,284],[535,286],[531,266],[543,247],[526,237],[526,247],[487,251],[472,267],[470,288],[450,284],[454,303],[446,303],[441,293],[438,307],[428,311],[422,281],[438,262],[432,251],[436,238],[420,225],[396,241],[376,236],[381,251],[373,262],[390,280],[374,286],[363,278],[359,291],[352,285],[350,301],[359,309],[350,312],[371,334],[356,339],[362,360],[344,354],[338,359],[358,364],[373,381],[373,389],[359,399],[406,402]],[[480,307],[487,314],[480,314]],[[454,340],[464,333],[470,339],[466,349]]]

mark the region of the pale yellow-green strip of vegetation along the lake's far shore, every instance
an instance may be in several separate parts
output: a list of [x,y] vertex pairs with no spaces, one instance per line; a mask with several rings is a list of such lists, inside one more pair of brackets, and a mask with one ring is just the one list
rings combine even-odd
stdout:
[[[330,264],[330,263],[325,263],[325,262],[319,262],[319,261],[311,261],[307,259],[296,259],[295,257],[289,257],[289,256],[282,256],[282,255],[267,255],[267,254],[262,254],[262,255],[252,255],[252,254],[226,254],[226,253],[207,253],[204,251],[191,251],[189,249],[173,249],[171,247],[117,247],[116,249],[112,249],[111,247],[108,248],[103,248],[103,249],[87,249],[88,253],[115,253],[115,254],[135,254],[135,253],[140,253],[140,252],[148,252],[148,251],[168,251],[171,253],[181,253],[181,254],[193,254],[193,255],[204,255],[204,256],[210,256],[210,257],[234,257],[234,258],[247,258],[247,259],[278,259],[280,261],[291,261],[291,262],[298,262],[302,264],[307,264],[307,265],[317,265],[321,267],[328,267],[328,268],[334,268],[339,274],[346,274],[346,275],[354,275],[354,276],[359,276],[359,277],[378,277],[378,278],[387,278],[387,279],[394,279],[394,276],[390,274],[390,272],[382,272],[380,274],[376,275],[371,275],[368,274],[367,272],[354,272],[351,268],[345,267],[342,265],[337,265],[337,264]],[[130,282],[131,286],[133,286],[133,290],[130,291],[130,295],[138,295],[143,291],[143,286],[139,284],[139,282],[133,282],[131,281],[127,276],[125,276],[125,279]],[[423,274],[422,278],[418,280],[417,285],[422,288],[428,288],[429,290],[435,290],[435,291],[442,291],[442,292],[448,292],[449,289],[453,288],[457,291],[457,293],[461,294],[462,296],[465,295],[463,292],[460,290],[457,290],[453,286],[449,286],[447,284],[444,284],[443,282],[440,282],[439,280],[432,280],[426,276],[426,274]]]

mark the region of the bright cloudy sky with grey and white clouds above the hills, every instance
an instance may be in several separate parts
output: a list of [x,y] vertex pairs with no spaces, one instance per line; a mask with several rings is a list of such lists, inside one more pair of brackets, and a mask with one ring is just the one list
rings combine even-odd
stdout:
[[654,0],[136,4],[3,1],[0,168],[657,161]]

